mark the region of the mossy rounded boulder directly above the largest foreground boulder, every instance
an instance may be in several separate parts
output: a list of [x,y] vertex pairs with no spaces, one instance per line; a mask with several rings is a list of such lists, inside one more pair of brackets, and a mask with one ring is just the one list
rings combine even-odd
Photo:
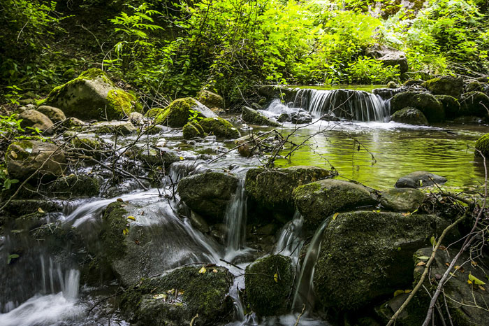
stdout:
[[367,187],[334,179],[302,185],[294,190],[293,199],[309,230],[316,229],[338,211],[377,204],[377,198]]

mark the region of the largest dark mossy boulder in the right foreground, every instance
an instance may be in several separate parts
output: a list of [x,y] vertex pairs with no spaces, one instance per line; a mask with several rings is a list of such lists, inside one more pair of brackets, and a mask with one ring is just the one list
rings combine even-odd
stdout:
[[413,253],[446,226],[435,215],[371,211],[338,215],[323,232],[314,272],[319,301],[324,306],[354,310],[409,288]]

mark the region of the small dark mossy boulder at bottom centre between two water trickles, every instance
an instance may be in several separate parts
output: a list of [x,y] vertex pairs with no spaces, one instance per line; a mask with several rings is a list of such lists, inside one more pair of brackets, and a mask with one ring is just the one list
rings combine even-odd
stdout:
[[245,271],[245,288],[251,310],[259,316],[289,313],[293,281],[291,257],[272,255],[249,264]]

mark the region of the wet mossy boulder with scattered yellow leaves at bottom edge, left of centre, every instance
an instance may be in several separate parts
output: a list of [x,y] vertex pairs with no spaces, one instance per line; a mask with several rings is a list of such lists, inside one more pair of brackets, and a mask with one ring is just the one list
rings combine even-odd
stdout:
[[[134,325],[224,325],[233,318],[228,296],[233,275],[224,267],[182,267],[143,278],[122,295],[122,309]],[[132,325],[132,323],[131,323]]]

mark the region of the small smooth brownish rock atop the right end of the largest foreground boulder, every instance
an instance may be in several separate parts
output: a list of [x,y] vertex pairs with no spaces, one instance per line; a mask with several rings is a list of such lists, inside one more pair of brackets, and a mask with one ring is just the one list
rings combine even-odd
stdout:
[[425,200],[423,192],[411,188],[390,189],[382,192],[380,203],[393,211],[413,212]]

